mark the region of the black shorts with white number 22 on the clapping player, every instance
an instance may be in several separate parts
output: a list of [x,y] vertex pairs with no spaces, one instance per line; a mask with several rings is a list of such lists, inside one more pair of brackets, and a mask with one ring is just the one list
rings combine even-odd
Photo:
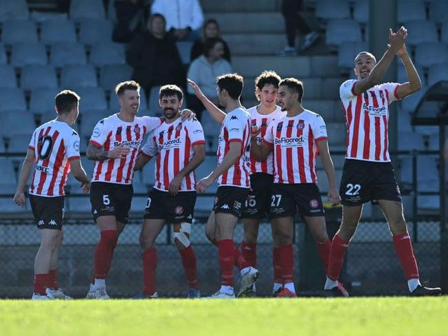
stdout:
[[360,205],[371,200],[401,202],[391,162],[346,159],[339,193],[344,205]]

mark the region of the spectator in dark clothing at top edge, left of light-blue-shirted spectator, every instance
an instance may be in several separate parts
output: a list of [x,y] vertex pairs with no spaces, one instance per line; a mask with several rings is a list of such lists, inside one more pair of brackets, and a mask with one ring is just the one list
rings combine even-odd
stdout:
[[115,0],[116,23],[112,32],[115,42],[129,43],[145,29],[148,0]]

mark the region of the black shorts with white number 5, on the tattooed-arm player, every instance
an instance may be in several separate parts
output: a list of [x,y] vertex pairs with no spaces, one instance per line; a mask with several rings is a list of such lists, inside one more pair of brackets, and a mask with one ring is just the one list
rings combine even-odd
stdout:
[[93,219],[101,216],[115,216],[118,222],[126,224],[131,209],[132,185],[93,182],[90,188],[90,203]]

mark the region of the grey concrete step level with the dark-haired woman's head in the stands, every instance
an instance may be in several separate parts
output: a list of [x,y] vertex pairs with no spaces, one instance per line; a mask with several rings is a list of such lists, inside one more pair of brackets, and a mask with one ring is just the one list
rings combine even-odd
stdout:
[[283,20],[283,16],[280,12],[212,12],[207,13],[205,18],[216,19],[223,34],[283,34],[285,32],[285,21]]

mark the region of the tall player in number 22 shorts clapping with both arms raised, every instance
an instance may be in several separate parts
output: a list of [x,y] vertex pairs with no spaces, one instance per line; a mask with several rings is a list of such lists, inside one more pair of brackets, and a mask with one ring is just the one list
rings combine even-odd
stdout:
[[[329,295],[340,295],[337,280],[343,265],[345,250],[356,231],[363,204],[378,201],[392,233],[398,258],[407,277],[412,295],[440,295],[440,288],[427,288],[419,281],[418,267],[411,238],[403,216],[400,189],[388,152],[389,104],[420,90],[418,73],[407,54],[407,30],[389,30],[388,50],[376,63],[374,55],[360,52],[355,58],[357,79],[340,85],[340,99],[347,123],[347,154],[340,181],[343,220],[332,241],[325,290]],[[409,81],[382,83],[390,63],[397,55]]]

